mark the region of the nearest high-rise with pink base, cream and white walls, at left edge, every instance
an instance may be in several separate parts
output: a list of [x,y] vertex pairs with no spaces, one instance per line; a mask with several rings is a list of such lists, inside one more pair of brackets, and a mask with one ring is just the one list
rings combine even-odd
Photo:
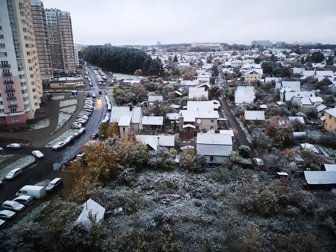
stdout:
[[29,1],[0,1],[0,125],[24,126],[42,96],[32,9]]

